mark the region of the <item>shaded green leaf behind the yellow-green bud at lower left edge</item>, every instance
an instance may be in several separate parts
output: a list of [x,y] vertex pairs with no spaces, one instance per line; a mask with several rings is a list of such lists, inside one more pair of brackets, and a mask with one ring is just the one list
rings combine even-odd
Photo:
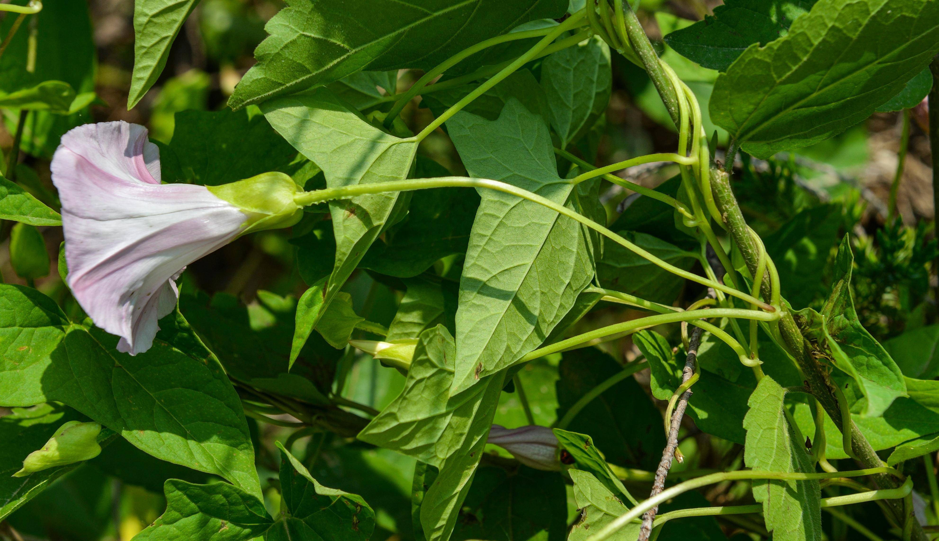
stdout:
[[86,418],[71,408],[55,404],[39,404],[32,408],[13,408],[13,412],[0,417],[0,520],[35,498],[55,479],[69,473],[81,464],[69,464],[32,473],[26,477],[13,477],[23,468],[23,458],[44,445],[56,428],[69,421]]

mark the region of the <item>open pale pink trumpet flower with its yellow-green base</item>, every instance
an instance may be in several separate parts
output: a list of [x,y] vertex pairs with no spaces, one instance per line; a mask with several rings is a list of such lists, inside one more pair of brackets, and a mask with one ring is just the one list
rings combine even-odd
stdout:
[[302,214],[284,173],[210,188],[161,184],[160,150],[146,135],[123,121],[74,128],[51,167],[69,288],[96,325],[120,337],[117,350],[131,354],[153,344],[186,265]]

